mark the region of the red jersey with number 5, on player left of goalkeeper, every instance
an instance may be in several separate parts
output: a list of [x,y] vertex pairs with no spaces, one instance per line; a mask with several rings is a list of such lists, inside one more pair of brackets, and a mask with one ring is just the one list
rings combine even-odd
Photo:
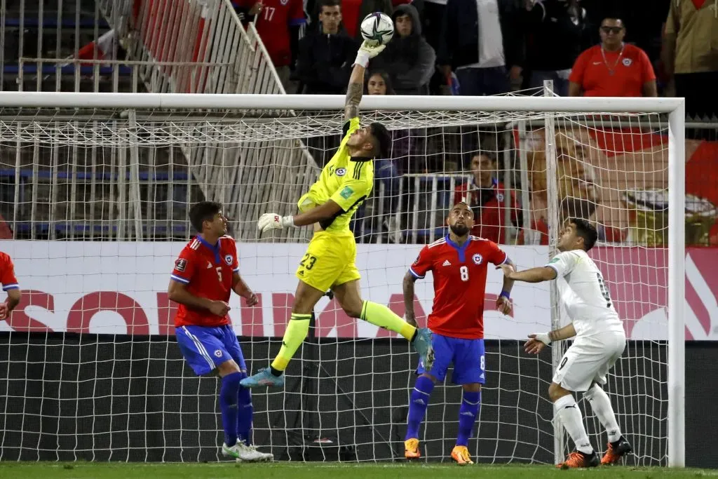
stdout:
[[[212,299],[229,302],[232,281],[239,271],[237,245],[231,236],[222,236],[217,244],[211,245],[201,236],[193,238],[174,261],[172,281],[186,284],[187,292]],[[208,310],[198,310],[185,304],[177,307],[174,326],[223,326],[230,322],[229,316],[213,315]]]

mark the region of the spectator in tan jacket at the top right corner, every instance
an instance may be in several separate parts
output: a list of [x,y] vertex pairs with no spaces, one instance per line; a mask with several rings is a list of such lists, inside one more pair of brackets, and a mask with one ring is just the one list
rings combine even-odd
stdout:
[[718,115],[718,1],[672,0],[666,19],[663,65],[686,98],[686,114]]

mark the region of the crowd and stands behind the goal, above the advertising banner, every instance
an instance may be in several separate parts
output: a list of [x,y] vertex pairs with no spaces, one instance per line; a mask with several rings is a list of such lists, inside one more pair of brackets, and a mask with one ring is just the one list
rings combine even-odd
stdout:
[[[718,0],[9,0],[7,6],[5,90],[341,95],[360,45],[359,24],[382,11],[395,33],[369,65],[367,95],[543,95],[551,80],[558,96],[684,97],[687,238],[718,245]],[[376,160],[373,199],[358,213],[355,235],[364,242],[430,241],[442,234],[449,204],[465,200],[475,210],[475,234],[545,244],[549,204],[557,201],[561,218],[596,220],[601,241],[660,246],[666,118],[621,124],[625,119],[557,125],[556,198],[547,192],[542,124],[395,129],[390,157]],[[309,136],[301,154],[272,161],[297,167],[308,152],[322,167],[339,141],[338,131]],[[7,144],[0,157],[1,237],[117,238],[113,208],[119,216],[131,211],[117,198],[136,194],[147,236],[185,238],[186,205],[213,193],[200,181],[205,157],[174,154],[172,145],[140,149],[139,192],[113,182],[109,172],[120,167],[113,161],[96,173],[88,160],[94,150],[81,157],[60,149],[58,159],[50,145],[34,145],[35,154],[30,147]],[[83,188],[104,195],[95,213],[86,211],[92,204],[86,198],[62,199]],[[256,203],[246,191],[233,201]]]

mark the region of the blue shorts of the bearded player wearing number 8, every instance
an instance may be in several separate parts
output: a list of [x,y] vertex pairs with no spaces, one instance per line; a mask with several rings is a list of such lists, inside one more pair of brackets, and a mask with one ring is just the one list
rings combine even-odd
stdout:
[[449,338],[434,332],[432,346],[434,347],[432,371],[426,371],[424,365],[419,362],[417,374],[429,373],[437,378],[437,381],[444,381],[449,364],[454,363],[452,383],[485,383],[484,340]]

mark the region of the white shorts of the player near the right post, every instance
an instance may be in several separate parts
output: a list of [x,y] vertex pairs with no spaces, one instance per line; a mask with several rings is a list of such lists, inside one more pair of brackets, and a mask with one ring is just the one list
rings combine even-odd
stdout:
[[623,354],[623,333],[606,332],[590,338],[577,338],[561,358],[553,382],[569,391],[588,391],[591,384],[606,383],[606,375]]

